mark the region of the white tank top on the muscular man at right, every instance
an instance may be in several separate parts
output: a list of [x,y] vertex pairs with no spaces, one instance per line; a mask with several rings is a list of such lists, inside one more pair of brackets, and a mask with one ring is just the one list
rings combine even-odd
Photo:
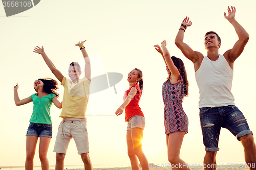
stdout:
[[199,108],[234,105],[230,91],[233,70],[224,56],[219,55],[216,61],[205,56],[195,75],[200,93]]

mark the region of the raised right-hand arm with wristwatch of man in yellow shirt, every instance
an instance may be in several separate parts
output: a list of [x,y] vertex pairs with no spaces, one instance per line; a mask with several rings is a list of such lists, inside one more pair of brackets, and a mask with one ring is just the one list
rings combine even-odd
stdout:
[[88,54],[86,52],[86,48],[83,46],[83,43],[86,42],[85,41],[79,41],[77,44],[75,44],[76,46],[79,46],[81,52],[82,52],[82,56],[84,58],[84,62],[86,62],[86,65],[84,66],[84,75],[86,76],[86,78],[91,81],[91,61],[90,58],[88,57]]

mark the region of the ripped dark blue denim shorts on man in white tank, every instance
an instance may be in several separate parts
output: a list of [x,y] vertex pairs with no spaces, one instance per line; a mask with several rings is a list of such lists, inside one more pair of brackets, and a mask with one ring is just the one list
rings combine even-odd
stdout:
[[221,128],[228,129],[239,140],[252,134],[243,113],[234,105],[200,108],[200,122],[205,151],[219,151]]

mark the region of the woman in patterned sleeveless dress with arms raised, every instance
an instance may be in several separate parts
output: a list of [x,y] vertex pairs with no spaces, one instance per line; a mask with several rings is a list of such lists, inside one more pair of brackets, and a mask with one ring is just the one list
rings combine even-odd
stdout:
[[185,163],[180,158],[180,149],[188,128],[188,118],[182,108],[183,97],[188,95],[184,63],[177,57],[170,57],[166,41],[161,43],[162,49],[159,45],[154,46],[162,55],[168,73],[168,78],[162,86],[168,160],[172,164],[172,169],[190,169],[189,166],[179,166]]

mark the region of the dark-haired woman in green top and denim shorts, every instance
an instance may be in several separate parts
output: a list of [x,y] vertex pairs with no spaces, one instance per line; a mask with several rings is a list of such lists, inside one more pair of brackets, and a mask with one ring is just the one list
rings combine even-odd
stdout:
[[62,102],[58,101],[59,94],[57,81],[47,78],[38,79],[34,82],[34,89],[37,93],[32,94],[23,100],[18,96],[18,84],[14,86],[14,101],[16,106],[25,105],[33,102],[33,113],[29,120],[30,125],[26,137],[26,162],[25,169],[33,169],[33,160],[36,150],[36,143],[40,137],[39,158],[42,170],[49,170],[47,152],[52,138],[52,120],[50,108],[52,103],[57,108],[62,108]]

